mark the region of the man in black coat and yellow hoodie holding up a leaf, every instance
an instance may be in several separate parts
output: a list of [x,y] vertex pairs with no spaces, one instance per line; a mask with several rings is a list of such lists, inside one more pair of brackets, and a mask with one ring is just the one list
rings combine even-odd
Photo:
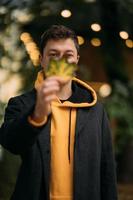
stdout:
[[[54,25],[41,38],[43,70],[51,58],[78,63],[75,33]],[[45,78],[11,98],[0,130],[3,147],[22,158],[11,200],[116,200],[116,176],[106,113],[79,79]]]

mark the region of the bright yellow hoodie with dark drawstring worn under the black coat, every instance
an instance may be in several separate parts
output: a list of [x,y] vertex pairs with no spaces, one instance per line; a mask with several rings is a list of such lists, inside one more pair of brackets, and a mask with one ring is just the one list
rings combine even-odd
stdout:
[[[39,72],[35,82],[37,88],[43,81],[43,74]],[[50,175],[50,200],[73,199],[73,150],[76,125],[77,108],[95,105],[97,96],[95,91],[83,81],[73,78],[73,83],[91,94],[91,101],[75,102],[68,100],[61,102],[58,98],[51,103],[51,175]],[[78,93],[77,93],[78,94]],[[79,92],[80,95],[80,92]],[[77,98],[77,97],[76,97]],[[70,98],[71,100],[71,98]],[[37,123],[29,118],[34,126],[42,126],[45,119]]]

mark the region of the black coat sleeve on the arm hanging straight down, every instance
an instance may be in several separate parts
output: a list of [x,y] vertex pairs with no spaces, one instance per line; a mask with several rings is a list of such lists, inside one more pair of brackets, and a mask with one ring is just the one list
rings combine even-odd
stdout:
[[117,200],[116,166],[106,112],[102,117],[101,199]]

